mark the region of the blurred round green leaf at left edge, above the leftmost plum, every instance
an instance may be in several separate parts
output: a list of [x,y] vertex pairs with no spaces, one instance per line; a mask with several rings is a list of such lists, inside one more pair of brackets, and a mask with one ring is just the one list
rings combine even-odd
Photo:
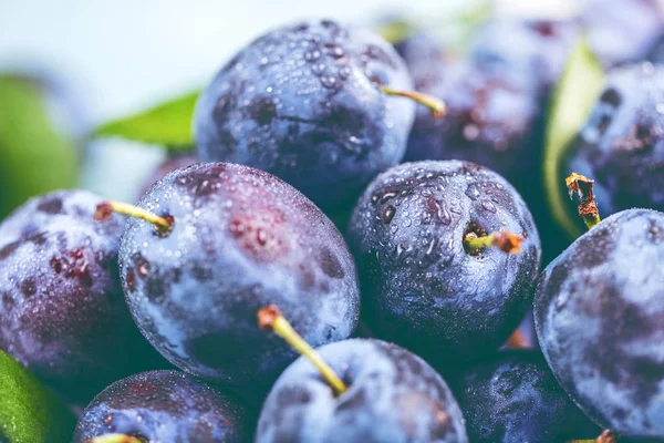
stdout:
[[50,112],[44,89],[0,75],[0,219],[29,197],[76,185],[77,145]]

